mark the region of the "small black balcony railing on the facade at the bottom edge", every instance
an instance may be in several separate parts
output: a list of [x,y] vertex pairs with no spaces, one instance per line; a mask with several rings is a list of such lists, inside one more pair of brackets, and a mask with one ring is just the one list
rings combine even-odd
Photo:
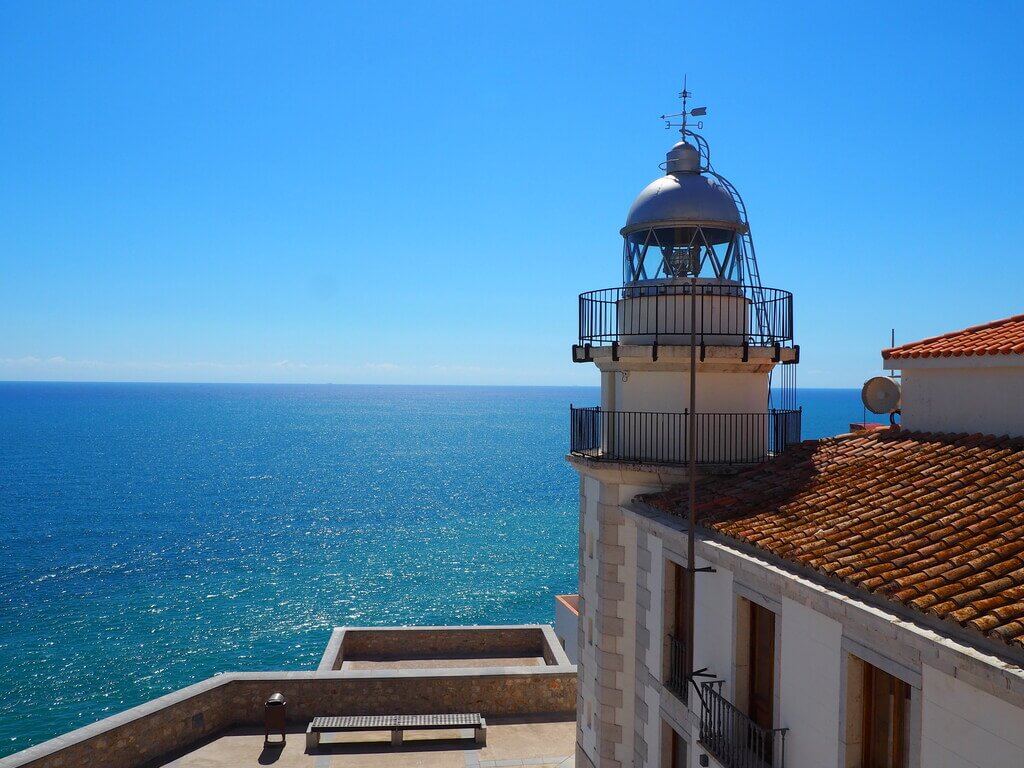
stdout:
[[787,728],[763,728],[722,695],[722,681],[700,684],[700,743],[726,768],[784,768]]

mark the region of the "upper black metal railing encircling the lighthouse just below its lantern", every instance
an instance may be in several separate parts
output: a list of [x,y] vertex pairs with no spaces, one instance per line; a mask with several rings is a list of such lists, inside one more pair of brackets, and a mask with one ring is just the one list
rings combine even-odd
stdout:
[[[689,344],[690,286],[633,285],[580,294],[580,344]],[[739,284],[696,286],[698,344],[793,341],[793,294]]]

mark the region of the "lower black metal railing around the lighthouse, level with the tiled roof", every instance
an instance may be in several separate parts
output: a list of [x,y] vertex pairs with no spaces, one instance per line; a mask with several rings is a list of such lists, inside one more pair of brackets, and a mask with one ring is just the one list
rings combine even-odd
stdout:
[[569,407],[569,453],[634,464],[689,463],[689,421],[697,464],[756,464],[800,442],[802,413],[653,413]]

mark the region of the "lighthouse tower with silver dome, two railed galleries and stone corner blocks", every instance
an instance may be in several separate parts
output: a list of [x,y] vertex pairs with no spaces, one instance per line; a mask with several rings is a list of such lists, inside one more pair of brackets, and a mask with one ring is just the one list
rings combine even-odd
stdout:
[[651,583],[653,547],[632,500],[687,482],[695,493],[699,475],[770,460],[800,440],[793,295],[762,286],[746,208],[693,130],[706,110],[688,109],[690,95],[684,89],[682,112],[667,116],[679,119],[670,126],[681,140],[665,175],[636,198],[621,230],[623,285],[580,296],[572,359],[601,372],[601,399],[570,412],[568,461],[580,473],[579,765],[644,762],[634,755],[648,707],[637,680],[650,674],[642,659],[654,645],[666,643],[664,674],[699,674],[692,635],[668,647],[660,624],[654,636],[643,618],[652,593],[676,589],[688,595],[692,627],[694,537],[680,555],[688,575]]

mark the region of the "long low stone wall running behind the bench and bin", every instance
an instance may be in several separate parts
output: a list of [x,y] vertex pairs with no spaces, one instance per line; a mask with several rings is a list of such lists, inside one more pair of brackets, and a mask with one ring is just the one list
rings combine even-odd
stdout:
[[0,760],[0,768],[136,768],[218,732],[263,722],[281,692],[289,721],[317,715],[479,712],[484,717],[575,714],[575,668],[384,673],[237,673],[154,699],[120,715]]

